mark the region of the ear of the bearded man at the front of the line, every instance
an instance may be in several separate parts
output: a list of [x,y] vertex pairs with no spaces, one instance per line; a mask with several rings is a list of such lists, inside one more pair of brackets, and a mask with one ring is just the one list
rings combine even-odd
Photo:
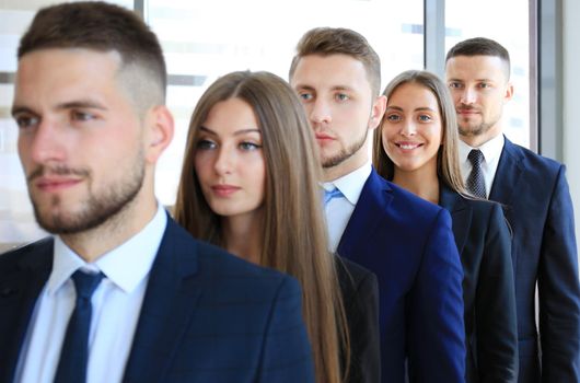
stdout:
[[154,164],[173,139],[173,116],[165,105],[158,105],[149,111],[146,124],[146,159]]

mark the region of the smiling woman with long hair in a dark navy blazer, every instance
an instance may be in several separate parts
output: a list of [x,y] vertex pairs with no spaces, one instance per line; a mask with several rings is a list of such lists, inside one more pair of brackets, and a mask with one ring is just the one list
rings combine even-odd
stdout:
[[518,330],[510,233],[501,207],[469,196],[463,185],[449,90],[437,76],[410,70],[395,77],[383,94],[386,111],[374,132],[376,171],[451,212],[464,270],[465,380],[515,382]]

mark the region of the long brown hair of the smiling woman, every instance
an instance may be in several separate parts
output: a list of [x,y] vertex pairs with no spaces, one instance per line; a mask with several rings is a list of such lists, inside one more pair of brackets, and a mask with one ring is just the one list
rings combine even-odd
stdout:
[[[463,184],[459,159],[459,132],[455,106],[448,88],[436,74],[425,70],[408,70],[395,77],[386,85],[383,95],[388,97],[403,84],[416,83],[429,90],[437,98],[442,119],[443,137],[437,152],[437,175],[448,187],[468,195]],[[395,165],[383,149],[382,128],[386,116],[374,130],[372,163],[376,172],[386,179],[393,179]]]

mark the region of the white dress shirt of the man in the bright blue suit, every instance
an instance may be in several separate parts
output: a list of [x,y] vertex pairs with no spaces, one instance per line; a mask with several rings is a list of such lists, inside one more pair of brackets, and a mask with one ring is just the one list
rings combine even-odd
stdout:
[[371,175],[371,163],[367,162],[361,167],[340,178],[322,184],[325,190],[329,192],[336,187],[343,193],[343,196],[330,199],[324,207],[326,228],[328,230],[328,251],[330,253],[335,253],[340,243],[340,237],[347,228],[352,211],[355,211],[362,187],[369,175]]

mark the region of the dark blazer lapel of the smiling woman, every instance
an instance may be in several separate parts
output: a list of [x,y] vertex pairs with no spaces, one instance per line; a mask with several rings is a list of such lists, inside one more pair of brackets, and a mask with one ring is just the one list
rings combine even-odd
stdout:
[[472,208],[462,196],[442,185],[439,188],[439,205],[449,210],[453,225],[453,236],[457,252],[461,254],[472,224]]

